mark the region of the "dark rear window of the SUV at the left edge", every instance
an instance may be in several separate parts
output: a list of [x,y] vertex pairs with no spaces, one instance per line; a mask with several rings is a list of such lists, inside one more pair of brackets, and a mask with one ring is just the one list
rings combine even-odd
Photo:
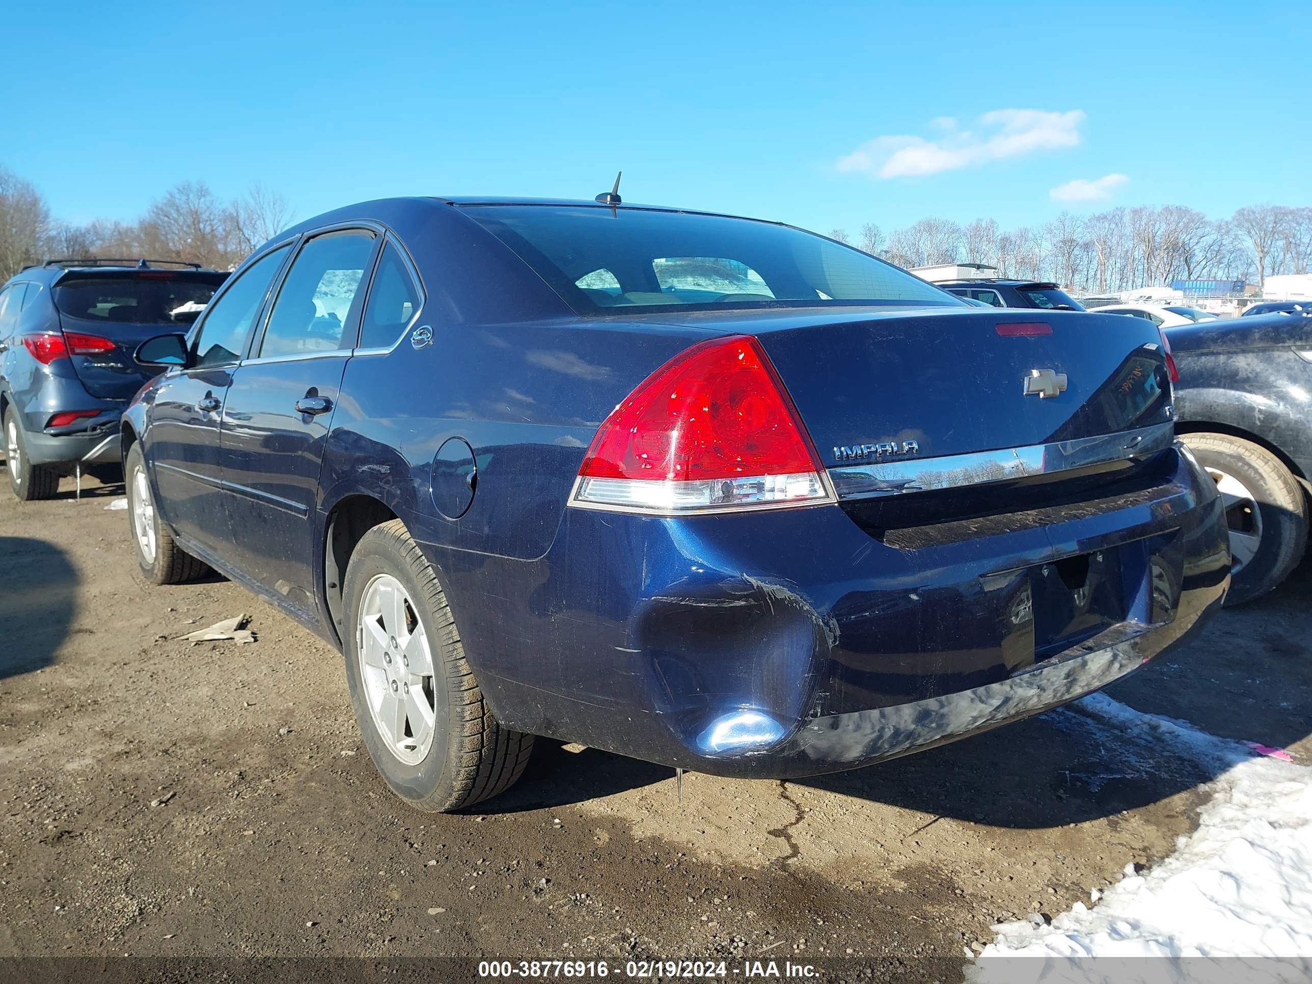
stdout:
[[222,276],[135,274],[68,278],[54,290],[55,307],[70,318],[127,324],[190,324]]

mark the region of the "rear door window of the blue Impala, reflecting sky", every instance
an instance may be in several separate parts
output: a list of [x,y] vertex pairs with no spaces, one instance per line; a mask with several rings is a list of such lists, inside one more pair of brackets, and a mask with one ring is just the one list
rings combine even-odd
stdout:
[[327,232],[306,243],[273,302],[260,358],[341,348],[373,253],[374,235],[362,230]]

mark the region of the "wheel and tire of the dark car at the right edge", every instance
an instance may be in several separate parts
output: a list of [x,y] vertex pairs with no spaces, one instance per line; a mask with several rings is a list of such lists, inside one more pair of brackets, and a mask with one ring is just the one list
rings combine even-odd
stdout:
[[1182,434],[1225,500],[1231,531],[1231,589],[1225,605],[1266,594],[1298,567],[1308,538],[1303,487],[1261,445],[1229,434]]

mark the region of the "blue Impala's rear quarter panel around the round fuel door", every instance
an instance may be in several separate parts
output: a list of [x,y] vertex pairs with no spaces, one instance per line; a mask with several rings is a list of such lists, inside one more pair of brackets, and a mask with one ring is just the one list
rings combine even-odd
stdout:
[[[422,321],[422,319],[420,319]],[[601,421],[656,367],[707,337],[691,328],[606,321],[432,325],[346,365],[320,478],[320,509],[370,495],[416,539],[533,559],[547,552]],[[472,447],[468,510],[445,518],[430,497],[433,459],[451,437]]]

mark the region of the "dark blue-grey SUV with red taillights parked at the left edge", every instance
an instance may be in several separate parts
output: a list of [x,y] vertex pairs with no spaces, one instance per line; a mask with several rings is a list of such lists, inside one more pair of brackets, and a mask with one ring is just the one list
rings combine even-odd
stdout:
[[159,373],[133,350],[160,325],[190,325],[226,278],[164,260],[49,260],[0,289],[0,421],[18,499],[118,463],[118,417]]

